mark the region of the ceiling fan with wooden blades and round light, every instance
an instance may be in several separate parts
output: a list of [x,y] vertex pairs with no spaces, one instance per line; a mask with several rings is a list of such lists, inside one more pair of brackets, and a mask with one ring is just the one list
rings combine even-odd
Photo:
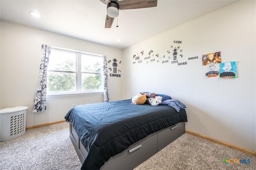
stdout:
[[157,0],[100,0],[107,4],[105,28],[111,28],[114,18],[118,17],[119,10],[150,8],[157,6]]

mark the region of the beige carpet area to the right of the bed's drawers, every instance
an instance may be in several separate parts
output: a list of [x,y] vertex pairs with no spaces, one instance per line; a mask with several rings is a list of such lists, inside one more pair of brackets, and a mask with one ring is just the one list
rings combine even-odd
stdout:
[[[223,158],[250,164],[226,165]],[[256,157],[185,133],[134,170],[256,170]]]

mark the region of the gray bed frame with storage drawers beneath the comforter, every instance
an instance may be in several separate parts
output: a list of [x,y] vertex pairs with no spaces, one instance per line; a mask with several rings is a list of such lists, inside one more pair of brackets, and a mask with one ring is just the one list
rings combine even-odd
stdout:
[[[176,125],[162,129],[156,133],[152,133],[144,139],[134,143],[123,152],[111,157],[107,162],[105,162],[100,170],[132,170],[184,133],[184,122],[177,123]],[[80,162],[83,163],[88,152],[82,145],[72,123],[70,123],[70,139],[74,145]]]

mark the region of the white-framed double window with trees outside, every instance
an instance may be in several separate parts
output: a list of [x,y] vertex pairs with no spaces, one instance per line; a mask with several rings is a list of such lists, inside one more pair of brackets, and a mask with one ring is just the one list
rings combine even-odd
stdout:
[[103,56],[52,47],[47,94],[103,92]]

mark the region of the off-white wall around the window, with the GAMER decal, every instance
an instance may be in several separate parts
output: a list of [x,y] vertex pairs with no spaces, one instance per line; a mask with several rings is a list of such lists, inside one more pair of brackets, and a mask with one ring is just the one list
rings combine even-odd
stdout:
[[[32,113],[42,44],[122,59],[120,49],[1,20],[0,109],[28,106],[27,127],[64,120],[72,104],[103,102],[103,94],[48,98],[46,112]],[[109,76],[110,100],[122,98],[121,84],[122,76]]]

